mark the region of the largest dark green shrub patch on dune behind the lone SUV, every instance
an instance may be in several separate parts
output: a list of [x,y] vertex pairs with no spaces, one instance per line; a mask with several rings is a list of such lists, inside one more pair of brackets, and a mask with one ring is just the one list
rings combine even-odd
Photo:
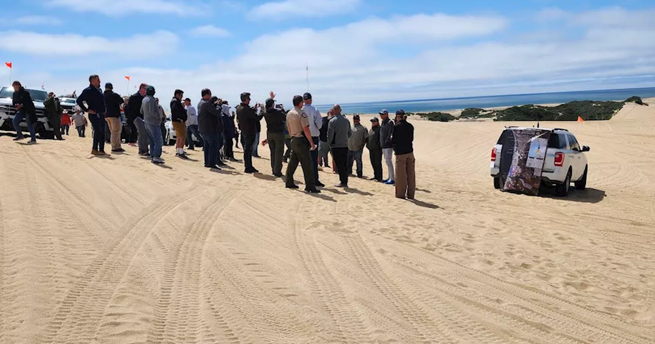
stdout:
[[616,114],[624,103],[621,101],[571,101],[556,107],[523,105],[496,111],[496,120],[557,120],[574,121],[578,116],[583,120],[608,120]]

